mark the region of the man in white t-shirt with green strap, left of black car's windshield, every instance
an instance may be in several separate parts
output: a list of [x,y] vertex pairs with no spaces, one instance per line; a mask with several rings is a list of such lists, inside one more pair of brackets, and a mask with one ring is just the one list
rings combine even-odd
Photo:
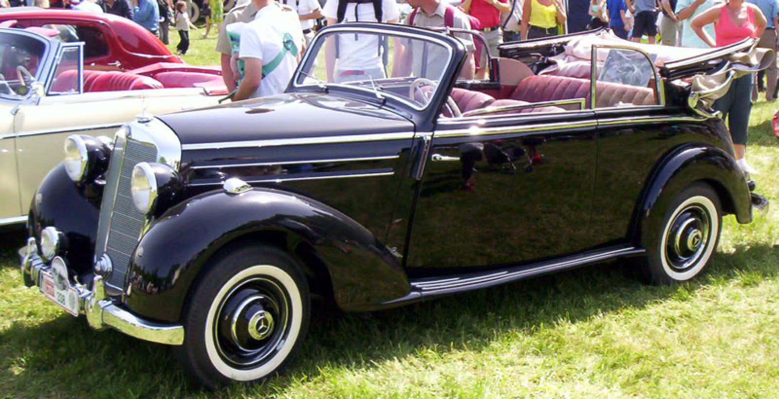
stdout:
[[252,0],[257,14],[241,31],[245,73],[233,101],[284,93],[303,48],[297,13],[275,0]]

